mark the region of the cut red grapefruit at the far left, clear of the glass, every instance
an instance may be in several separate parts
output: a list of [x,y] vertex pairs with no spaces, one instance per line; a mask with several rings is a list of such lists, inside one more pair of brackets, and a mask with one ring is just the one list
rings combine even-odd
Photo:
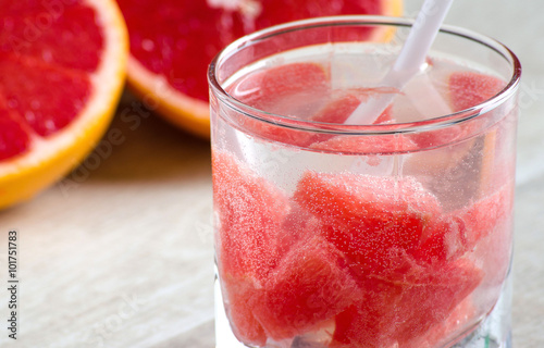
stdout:
[[112,1],[0,0],[0,208],[74,167],[121,95],[126,27]]

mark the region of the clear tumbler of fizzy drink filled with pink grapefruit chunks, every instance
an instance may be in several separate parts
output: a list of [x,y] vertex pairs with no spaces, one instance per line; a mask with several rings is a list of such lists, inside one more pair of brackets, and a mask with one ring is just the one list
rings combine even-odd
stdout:
[[[380,86],[403,20],[349,18],[256,34],[210,67],[218,347],[225,330],[240,347],[506,347],[519,63],[453,30],[403,90]],[[383,95],[372,124],[344,124]]]

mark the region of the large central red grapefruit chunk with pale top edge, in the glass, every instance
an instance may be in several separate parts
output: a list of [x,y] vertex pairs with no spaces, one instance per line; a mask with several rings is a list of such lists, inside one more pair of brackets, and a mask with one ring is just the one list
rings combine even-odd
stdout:
[[445,244],[425,244],[442,207],[411,177],[307,172],[294,198],[326,226],[326,239],[357,272],[400,266],[397,254],[432,262],[436,253],[447,253]]

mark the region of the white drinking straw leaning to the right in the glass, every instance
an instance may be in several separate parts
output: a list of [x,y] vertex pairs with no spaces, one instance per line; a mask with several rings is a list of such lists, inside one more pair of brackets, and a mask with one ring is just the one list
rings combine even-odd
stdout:
[[[426,53],[453,2],[454,0],[425,0],[393,69],[379,86],[401,90],[408,80],[421,71]],[[379,94],[368,102],[359,104],[345,124],[374,123],[393,98],[393,94]]]

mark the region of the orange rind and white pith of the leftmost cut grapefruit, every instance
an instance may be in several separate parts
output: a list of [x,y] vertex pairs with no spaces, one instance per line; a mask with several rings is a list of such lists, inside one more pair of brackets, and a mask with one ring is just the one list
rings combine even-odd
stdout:
[[97,145],[124,87],[128,34],[112,1],[87,0],[104,28],[102,62],[90,77],[94,90],[76,120],[48,137],[30,137],[28,152],[0,163],[0,209],[32,198],[74,169]]

